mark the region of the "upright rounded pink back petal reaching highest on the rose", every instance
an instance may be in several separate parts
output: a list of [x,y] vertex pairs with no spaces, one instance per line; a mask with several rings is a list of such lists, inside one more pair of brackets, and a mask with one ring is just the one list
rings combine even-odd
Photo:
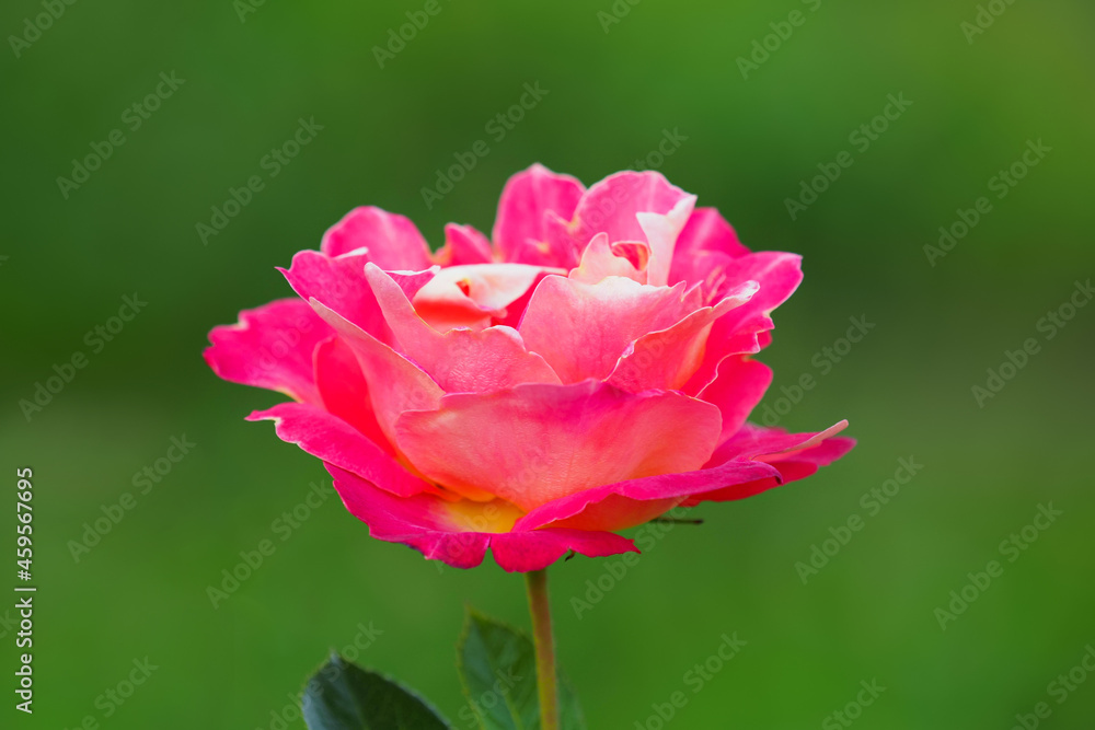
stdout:
[[498,202],[494,242],[504,260],[542,266],[569,264],[551,255],[544,221],[570,220],[585,187],[569,175],[558,175],[541,164],[509,178]]

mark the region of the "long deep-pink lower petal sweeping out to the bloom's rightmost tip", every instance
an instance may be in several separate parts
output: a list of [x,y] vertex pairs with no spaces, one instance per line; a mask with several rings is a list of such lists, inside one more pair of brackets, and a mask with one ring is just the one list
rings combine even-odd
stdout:
[[[611,484],[597,489],[557,499],[530,511],[517,521],[516,530],[533,530],[545,526],[575,530],[623,530],[641,524],[675,505],[687,507],[703,500],[741,499],[783,484],[785,480],[807,476],[803,473],[804,461],[812,455],[811,448],[822,449],[829,461],[851,449],[851,439],[825,439],[848,426],[841,421],[820,433],[786,433],[780,431],[775,438],[752,440],[749,434],[723,453],[716,452],[702,470],[683,474],[665,474]],[[750,427],[754,429],[756,427]],[[766,429],[760,429],[766,430]],[[724,444],[725,447],[726,444]],[[782,451],[780,451],[782,450]],[[779,451],[779,453],[775,453]],[[817,465],[821,464],[817,461]],[[786,468],[786,473],[784,470]],[[812,472],[810,472],[812,473]],[[802,476],[799,476],[802,474]],[[658,510],[644,512],[644,503]]]

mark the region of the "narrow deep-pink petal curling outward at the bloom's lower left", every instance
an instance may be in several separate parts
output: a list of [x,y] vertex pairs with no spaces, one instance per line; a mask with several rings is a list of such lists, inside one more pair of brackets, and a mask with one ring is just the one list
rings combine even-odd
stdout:
[[411,475],[346,421],[316,406],[281,403],[267,410],[256,410],[247,420],[273,420],[278,438],[296,443],[328,464],[348,470],[381,489],[410,497],[437,488]]

